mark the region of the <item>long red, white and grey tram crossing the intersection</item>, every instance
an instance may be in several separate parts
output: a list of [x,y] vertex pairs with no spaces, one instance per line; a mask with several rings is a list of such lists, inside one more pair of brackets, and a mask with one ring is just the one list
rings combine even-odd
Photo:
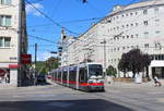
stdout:
[[51,71],[52,81],[74,89],[104,91],[103,66],[99,63],[80,63]]

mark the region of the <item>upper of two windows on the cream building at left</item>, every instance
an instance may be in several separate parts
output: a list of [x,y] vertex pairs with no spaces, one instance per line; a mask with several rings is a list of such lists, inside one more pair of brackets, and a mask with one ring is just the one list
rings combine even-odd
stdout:
[[11,16],[0,15],[0,26],[11,26]]

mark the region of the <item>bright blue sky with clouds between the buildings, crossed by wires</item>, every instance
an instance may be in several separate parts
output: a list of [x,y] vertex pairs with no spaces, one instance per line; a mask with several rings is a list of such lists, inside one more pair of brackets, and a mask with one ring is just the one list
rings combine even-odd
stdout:
[[[28,0],[55,22],[77,34],[84,33],[92,23],[98,21],[110,12],[116,4],[129,4],[140,0]],[[37,2],[39,1],[39,2]],[[34,58],[34,44],[38,44],[38,61],[55,55],[50,51],[57,51],[57,42],[60,39],[61,27],[38,13],[33,7],[26,4],[27,34],[31,36],[46,38],[49,41],[36,39],[28,36],[28,53]],[[95,18],[95,20],[92,20]],[[85,21],[79,21],[85,20]],[[78,36],[67,32],[68,35]],[[33,59],[34,60],[34,59]]]

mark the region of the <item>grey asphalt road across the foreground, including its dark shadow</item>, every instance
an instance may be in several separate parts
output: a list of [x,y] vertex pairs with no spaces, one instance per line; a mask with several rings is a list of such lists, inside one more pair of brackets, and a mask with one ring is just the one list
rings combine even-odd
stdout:
[[164,87],[113,84],[106,92],[59,85],[0,88],[0,111],[163,111]]

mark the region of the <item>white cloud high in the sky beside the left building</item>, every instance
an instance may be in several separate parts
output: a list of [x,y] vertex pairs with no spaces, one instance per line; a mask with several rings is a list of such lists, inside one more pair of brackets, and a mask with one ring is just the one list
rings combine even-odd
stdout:
[[[39,9],[39,10],[44,9],[44,7],[39,3],[33,3],[33,5],[37,9]],[[25,9],[26,13],[27,14],[33,14],[35,16],[40,16],[40,13],[35,8],[33,8],[31,4],[26,4],[26,9]]]

